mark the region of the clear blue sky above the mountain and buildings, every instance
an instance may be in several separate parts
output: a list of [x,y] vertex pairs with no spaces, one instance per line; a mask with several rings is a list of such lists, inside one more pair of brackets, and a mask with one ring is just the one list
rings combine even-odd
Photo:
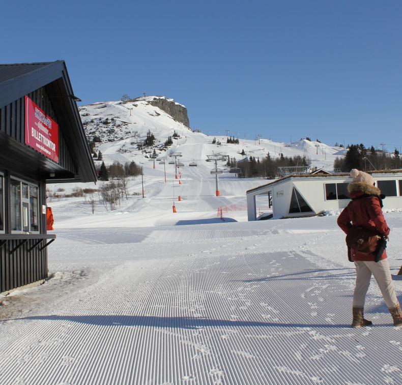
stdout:
[[402,146],[400,1],[12,3],[0,62],[65,60],[81,104],[146,92],[204,132]]

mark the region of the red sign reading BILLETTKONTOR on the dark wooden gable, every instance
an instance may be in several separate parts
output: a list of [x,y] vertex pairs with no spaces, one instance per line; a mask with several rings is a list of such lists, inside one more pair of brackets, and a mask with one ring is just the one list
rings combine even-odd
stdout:
[[25,96],[25,144],[59,163],[59,125]]

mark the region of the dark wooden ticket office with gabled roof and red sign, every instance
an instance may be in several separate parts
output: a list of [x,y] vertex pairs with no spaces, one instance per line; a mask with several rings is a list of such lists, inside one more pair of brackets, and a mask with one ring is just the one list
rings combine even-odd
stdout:
[[46,183],[95,182],[64,61],[0,65],[0,292],[47,277]]

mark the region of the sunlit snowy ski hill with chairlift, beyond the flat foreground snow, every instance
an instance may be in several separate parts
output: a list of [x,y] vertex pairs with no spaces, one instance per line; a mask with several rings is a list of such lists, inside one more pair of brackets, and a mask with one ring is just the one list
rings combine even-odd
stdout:
[[[311,166],[332,169],[333,160],[342,152],[340,147],[330,147],[319,142],[300,140],[295,143],[279,143],[268,139],[241,139],[240,144],[226,143],[226,136],[216,136],[221,145],[212,144],[212,136],[191,132],[187,127],[175,121],[158,107],[148,103],[154,97],[141,98],[132,102],[102,102],[80,107],[82,121],[89,138],[97,135],[102,142],[97,144],[97,151],[103,154],[106,164],[114,161],[126,163],[135,161],[143,168],[145,199],[142,199],[141,178],[129,181],[129,197],[117,205],[116,210],[106,212],[102,204],[96,205],[92,215],[89,196],[86,199],[50,199],[55,218],[55,228],[75,227],[77,220],[85,227],[133,227],[162,226],[189,223],[212,223],[217,221],[217,210],[229,207],[226,221],[246,221],[246,191],[268,183],[264,179],[238,179],[229,173],[225,161],[218,163],[223,174],[219,176],[220,197],[215,197],[215,176],[211,175],[213,162],[206,162],[208,155],[217,153],[230,158],[242,159],[242,150],[247,156],[263,159],[269,153],[271,157],[307,156]],[[107,120],[106,120],[107,119]],[[134,132],[137,131],[136,137]],[[137,142],[145,139],[151,131],[156,137],[155,150],[160,161],[149,161],[153,148],[138,150]],[[163,143],[174,132],[180,138],[168,150]],[[318,146],[318,148],[317,148]],[[318,154],[317,154],[318,152]],[[175,168],[168,164],[173,158],[169,155],[182,155],[184,167],[180,168],[181,179],[175,179]],[[101,161],[95,161],[98,166]],[[196,167],[189,166],[195,162]],[[166,183],[165,183],[166,171]],[[98,187],[102,182],[98,182]],[[49,185],[50,192],[57,192],[62,187],[66,192],[76,185]],[[93,187],[83,186],[83,187]],[[133,195],[136,194],[136,195]],[[138,195],[139,194],[139,195]],[[63,195],[63,194],[62,194]],[[180,196],[180,201],[179,201]],[[95,194],[98,200],[98,194]],[[175,204],[177,214],[173,215]],[[258,203],[259,210],[269,212],[268,202]]]

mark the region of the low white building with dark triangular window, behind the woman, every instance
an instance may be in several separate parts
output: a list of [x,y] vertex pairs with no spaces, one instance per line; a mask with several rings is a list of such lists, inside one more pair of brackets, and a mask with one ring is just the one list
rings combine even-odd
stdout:
[[[370,172],[386,195],[385,209],[402,209],[402,170]],[[247,191],[247,216],[257,220],[256,198],[264,197],[276,218],[319,215],[345,208],[349,201],[347,173],[290,175]]]

